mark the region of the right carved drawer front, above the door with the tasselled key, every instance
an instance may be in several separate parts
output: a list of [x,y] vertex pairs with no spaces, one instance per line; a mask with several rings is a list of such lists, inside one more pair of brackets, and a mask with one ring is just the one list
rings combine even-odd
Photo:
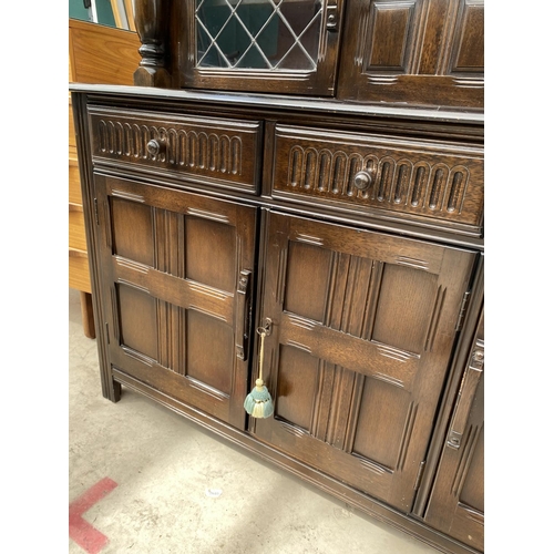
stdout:
[[480,235],[483,151],[276,126],[273,195]]

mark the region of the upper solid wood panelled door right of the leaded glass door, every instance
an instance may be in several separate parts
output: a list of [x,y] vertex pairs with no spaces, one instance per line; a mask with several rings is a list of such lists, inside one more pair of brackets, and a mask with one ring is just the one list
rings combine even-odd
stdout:
[[483,107],[484,0],[351,0],[341,99]]

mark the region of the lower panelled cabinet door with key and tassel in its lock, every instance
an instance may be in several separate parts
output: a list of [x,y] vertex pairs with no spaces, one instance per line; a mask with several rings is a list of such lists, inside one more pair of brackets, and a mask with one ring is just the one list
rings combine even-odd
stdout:
[[411,509],[475,254],[269,215],[256,435]]

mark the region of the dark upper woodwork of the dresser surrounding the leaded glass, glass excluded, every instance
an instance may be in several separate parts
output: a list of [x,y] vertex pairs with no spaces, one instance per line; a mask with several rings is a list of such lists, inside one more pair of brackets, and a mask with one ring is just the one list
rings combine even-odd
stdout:
[[305,72],[197,66],[195,3],[136,4],[137,85],[483,109],[483,0],[327,0],[317,66]]

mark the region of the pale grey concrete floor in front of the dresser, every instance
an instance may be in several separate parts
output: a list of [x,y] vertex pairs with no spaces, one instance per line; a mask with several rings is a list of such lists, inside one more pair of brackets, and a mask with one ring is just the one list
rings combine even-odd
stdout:
[[82,515],[107,542],[70,536],[70,554],[438,553],[137,392],[104,399],[72,289],[69,335],[70,506],[105,478],[114,486]]

